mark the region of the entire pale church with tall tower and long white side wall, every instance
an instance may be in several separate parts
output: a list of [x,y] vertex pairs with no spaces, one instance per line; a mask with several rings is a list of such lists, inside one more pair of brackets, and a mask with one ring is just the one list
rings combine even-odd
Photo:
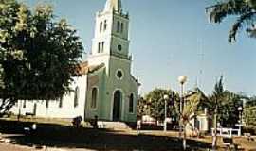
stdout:
[[74,77],[74,90],[59,100],[18,101],[11,109],[18,114],[46,118],[93,119],[135,122],[139,83],[131,74],[129,15],[120,0],[107,0],[97,12],[95,36],[82,76]]

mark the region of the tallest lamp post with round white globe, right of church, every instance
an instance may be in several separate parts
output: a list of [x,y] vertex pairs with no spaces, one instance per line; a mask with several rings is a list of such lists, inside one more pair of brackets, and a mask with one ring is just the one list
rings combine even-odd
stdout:
[[178,76],[178,82],[180,83],[180,101],[179,101],[179,137],[181,138],[182,132],[182,124],[181,124],[181,115],[183,110],[183,92],[184,92],[184,84],[187,81],[187,76]]

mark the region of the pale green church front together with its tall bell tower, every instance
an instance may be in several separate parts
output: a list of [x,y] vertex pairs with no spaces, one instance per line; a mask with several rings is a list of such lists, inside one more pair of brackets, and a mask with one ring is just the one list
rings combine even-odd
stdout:
[[[131,73],[128,33],[129,15],[123,11],[121,0],[106,0],[105,7],[96,14],[92,50],[88,55],[89,66],[104,65],[102,70],[88,74],[86,114],[89,117],[136,121],[139,83]],[[99,90],[97,109],[89,105],[94,88]]]

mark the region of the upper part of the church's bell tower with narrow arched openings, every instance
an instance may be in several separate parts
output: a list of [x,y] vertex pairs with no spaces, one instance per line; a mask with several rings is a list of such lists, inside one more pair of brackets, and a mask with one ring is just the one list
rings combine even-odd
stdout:
[[112,56],[130,60],[128,31],[129,15],[122,11],[121,1],[107,0],[105,8],[96,14],[95,36],[89,63],[107,65],[104,57]]

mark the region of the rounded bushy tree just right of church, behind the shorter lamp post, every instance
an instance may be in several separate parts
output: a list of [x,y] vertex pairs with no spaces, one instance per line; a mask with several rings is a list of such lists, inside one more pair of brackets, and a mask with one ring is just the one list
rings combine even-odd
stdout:
[[170,100],[167,101],[167,116],[175,119],[177,117],[177,102],[179,101],[178,94],[171,90],[157,88],[146,94],[144,98],[139,99],[137,106],[138,116],[150,115],[157,120],[164,120],[165,100],[163,96],[165,94],[168,94],[170,98]]

